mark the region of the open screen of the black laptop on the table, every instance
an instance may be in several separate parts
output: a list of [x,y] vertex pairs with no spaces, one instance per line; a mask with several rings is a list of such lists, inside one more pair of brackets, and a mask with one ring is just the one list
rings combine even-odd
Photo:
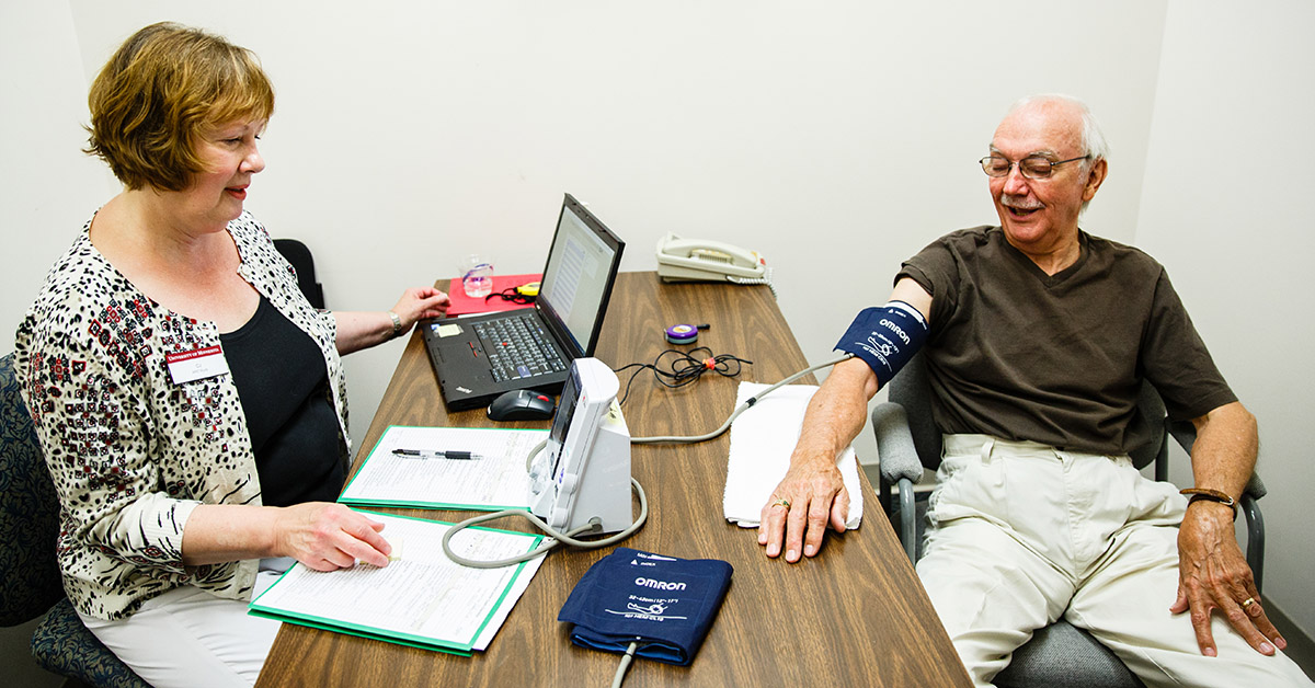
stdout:
[[544,314],[563,325],[576,355],[592,354],[590,343],[601,324],[601,307],[611,289],[619,251],[619,239],[567,195],[538,303]]

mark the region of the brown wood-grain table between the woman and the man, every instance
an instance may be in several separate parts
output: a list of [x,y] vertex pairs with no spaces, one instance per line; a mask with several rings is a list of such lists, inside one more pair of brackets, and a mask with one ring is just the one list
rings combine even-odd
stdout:
[[[775,383],[807,367],[767,287],[663,284],[655,272],[617,278],[597,356],[611,367],[652,362],[663,329],[711,324],[698,346],[752,360],[740,379]],[[682,347],[688,349],[688,347]],[[622,374],[625,389],[629,372]],[[800,383],[815,381],[810,379]],[[736,380],[705,375],[680,389],[651,372],[634,383],[623,410],[631,435],[701,434],[732,410]],[[412,334],[379,413],[360,438],[356,466],[389,425],[489,426],[483,410],[446,413],[438,381]],[[547,428],[547,421],[502,424]],[[735,567],[730,592],[689,667],[635,660],[629,688],[647,685],[969,685],[926,592],[877,497],[863,478],[863,526],[827,534],[822,554],[798,564],[772,560],[756,530],[722,517],[730,433],[701,445],[633,447],[633,474],[648,492],[647,525],[627,546]],[[861,472],[860,472],[861,476]],[[397,510],[455,522],[467,512]],[[489,524],[523,530],[519,520]],[[583,650],[556,621],[567,595],[610,551],[548,554],[488,651],[471,658],[284,625],[259,687],[609,685],[619,655]]]

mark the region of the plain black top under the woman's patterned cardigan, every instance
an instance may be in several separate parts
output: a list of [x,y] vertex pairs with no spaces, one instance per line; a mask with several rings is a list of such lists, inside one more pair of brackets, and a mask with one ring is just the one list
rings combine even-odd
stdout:
[[251,320],[220,342],[246,414],[262,503],[337,500],[346,476],[320,347],[264,296]]

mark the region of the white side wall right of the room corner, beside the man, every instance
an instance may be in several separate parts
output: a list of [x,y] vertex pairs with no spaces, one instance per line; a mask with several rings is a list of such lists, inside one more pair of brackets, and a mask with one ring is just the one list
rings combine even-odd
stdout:
[[[1315,5],[1169,3],[1137,243],[1260,420],[1265,596],[1315,633]],[[1174,481],[1190,484],[1184,464]],[[1302,592],[1306,591],[1306,592]]]

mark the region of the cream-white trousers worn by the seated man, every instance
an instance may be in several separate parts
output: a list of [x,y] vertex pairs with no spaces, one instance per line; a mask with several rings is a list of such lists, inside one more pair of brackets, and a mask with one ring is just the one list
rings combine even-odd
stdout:
[[1219,655],[1172,614],[1186,500],[1127,456],[945,435],[918,576],[977,685],[1032,630],[1085,629],[1147,685],[1311,685],[1282,652],[1253,650],[1215,614]]

